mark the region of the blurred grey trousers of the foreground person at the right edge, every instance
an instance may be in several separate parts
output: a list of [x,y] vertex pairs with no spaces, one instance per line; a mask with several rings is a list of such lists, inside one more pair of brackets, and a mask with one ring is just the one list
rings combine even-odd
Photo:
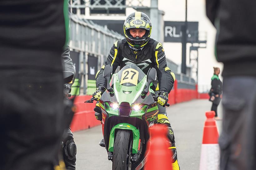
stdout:
[[221,170],[255,167],[255,77],[224,77]]

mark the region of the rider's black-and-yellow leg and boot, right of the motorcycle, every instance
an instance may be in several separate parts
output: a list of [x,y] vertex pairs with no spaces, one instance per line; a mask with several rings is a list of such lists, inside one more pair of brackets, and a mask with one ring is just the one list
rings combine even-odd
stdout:
[[175,138],[174,138],[173,130],[168,120],[168,117],[165,114],[159,113],[158,123],[165,124],[167,126],[167,129],[168,129],[167,137],[170,140],[170,142],[168,141],[168,143],[170,143],[170,147],[168,149],[171,149],[172,151],[172,157],[171,157],[172,169],[180,170],[180,166],[177,159],[177,150],[175,147]]

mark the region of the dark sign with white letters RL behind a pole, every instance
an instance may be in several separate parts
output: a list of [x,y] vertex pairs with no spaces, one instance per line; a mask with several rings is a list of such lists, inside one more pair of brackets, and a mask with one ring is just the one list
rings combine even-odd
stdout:
[[[183,21],[165,21],[164,42],[180,43],[182,32],[181,26],[185,25]],[[188,22],[188,42],[196,42],[198,40],[198,22]]]

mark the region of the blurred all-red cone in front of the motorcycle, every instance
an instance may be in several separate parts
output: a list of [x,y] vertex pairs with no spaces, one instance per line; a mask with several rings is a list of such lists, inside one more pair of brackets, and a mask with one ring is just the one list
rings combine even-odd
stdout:
[[[150,128],[150,142],[147,143],[147,163],[145,170],[172,170],[171,150],[168,149],[167,128],[154,125]],[[147,153],[146,152],[146,153]]]

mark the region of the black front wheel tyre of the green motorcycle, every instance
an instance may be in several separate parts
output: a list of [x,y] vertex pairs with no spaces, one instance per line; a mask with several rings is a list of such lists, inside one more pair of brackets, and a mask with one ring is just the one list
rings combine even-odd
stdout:
[[118,129],[114,143],[112,170],[131,170],[132,141],[130,131]]

